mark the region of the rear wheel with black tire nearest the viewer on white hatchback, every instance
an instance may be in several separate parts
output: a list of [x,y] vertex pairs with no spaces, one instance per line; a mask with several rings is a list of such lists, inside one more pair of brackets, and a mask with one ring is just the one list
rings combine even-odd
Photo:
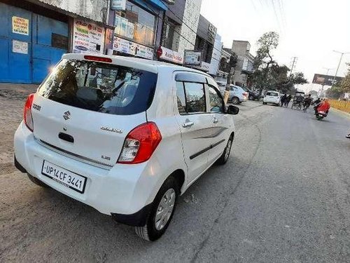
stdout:
[[[155,200],[153,201],[151,212],[148,214],[144,227],[134,227],[137,236],[146,241],[156,241],[167,230],[176,208],[176,201],[179,196],[179,186],[172,176],[162,184]],[[168,201],[169,198],[169,201]],[[165,201],[165,202],[164,202]],[[165,209],[166,213],[158,213]],[[156,221],[156,218],[160,219]],[[164,222],[166,220],[166,222]],[[159,223],[159,224],[157,224]]]

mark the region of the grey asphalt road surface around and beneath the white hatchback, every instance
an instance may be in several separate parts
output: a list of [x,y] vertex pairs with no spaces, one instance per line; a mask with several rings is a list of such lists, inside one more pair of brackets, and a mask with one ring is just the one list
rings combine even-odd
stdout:
[[[11,105],[14,132],[22,100]],[[0,262],[350,262],[350,119],[316,121],[261,102],[235,116],[230,160],[181,196],[165,236],[148,243],[52,189],[32,184],[1,142]]]

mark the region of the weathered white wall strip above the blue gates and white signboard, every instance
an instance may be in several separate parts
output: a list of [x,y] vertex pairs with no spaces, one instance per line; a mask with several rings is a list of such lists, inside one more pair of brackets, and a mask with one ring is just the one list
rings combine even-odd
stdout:
[[[103,21],[104,11],[108,11],[109,0],[37,0],[50,6],[75,13],[83,18],[94,21]],[[106,9],[107,8],[107,9]]]

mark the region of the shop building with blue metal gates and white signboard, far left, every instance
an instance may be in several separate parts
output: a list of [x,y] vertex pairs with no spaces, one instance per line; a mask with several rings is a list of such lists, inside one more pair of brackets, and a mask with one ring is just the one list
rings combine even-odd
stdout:
[[108,10],[104,0],[0,0],[0,82],[41,83],[64,53],[104,53]]

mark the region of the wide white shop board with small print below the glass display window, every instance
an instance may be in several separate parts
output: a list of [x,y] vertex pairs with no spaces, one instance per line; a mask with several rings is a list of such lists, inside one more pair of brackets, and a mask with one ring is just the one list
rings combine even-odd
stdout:
[[148,60],[153,59],[153,48],[148,48],[148,46],[143,46],[126,39],[121,39],[118,36],[114,36],[113,50],[140,58],[147,58]]

